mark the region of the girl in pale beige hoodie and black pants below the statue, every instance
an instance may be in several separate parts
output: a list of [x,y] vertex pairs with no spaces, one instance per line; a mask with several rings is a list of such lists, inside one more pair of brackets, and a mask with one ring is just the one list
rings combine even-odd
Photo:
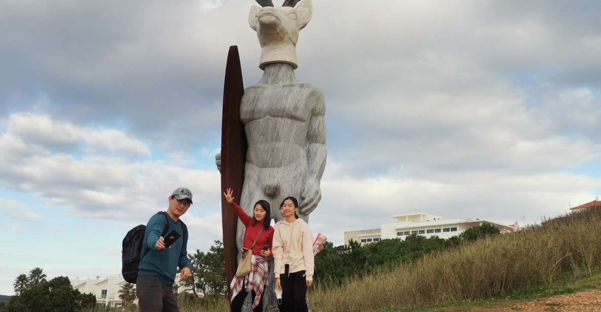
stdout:
[[313,235],[296,215],[298,206],[292,196],[282,201],[282,220],[275,224],[273,233],[273,271],[276,287],[282,290],[281,312],[308,311],[307,287],[313,284]]

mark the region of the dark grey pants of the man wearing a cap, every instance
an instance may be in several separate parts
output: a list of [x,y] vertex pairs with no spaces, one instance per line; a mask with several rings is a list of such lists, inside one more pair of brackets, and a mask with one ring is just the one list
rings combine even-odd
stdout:
[[161,283],[156,275],[138,275],[136,293],[140,312],[180,312],[172,287]]

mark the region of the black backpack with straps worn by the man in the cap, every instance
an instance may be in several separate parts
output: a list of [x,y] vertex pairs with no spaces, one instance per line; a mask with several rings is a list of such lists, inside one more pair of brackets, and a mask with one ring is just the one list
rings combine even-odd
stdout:
[[[169,230],[169,220],[165,211],[159,211],[157,214],[165,217],[167,223],[165,224],[165,229],[163,229],[163,233],[160,236],[165,237],[167,230]],[[182,220],[182,229],[183,236],[186,237],[188,235],[188,227]],[[123,238],[123,249],[121,250],[121,275],[127,283],[135,284],[138,279],[138,266],[140,265],[140,261],[142,258],[148,253],[149,249],[144,253],[144,256],[140,257],[142,252],[142,246],[144,245],[144,233],[146,232],[146,226],[144,224],[140,224],[139,226],[134,227],[129,230]],[[183,239],[183,238],[182,238]]]

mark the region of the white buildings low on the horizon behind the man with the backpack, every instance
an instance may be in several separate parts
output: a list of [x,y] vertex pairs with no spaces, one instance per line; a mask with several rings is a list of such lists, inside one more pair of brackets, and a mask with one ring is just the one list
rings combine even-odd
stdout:
[[[175,280],[179,280],[180,274],[175,275]],[[91,293],[96,296],[96,304],[103,305],[106,307],[121,307],[121,299],[119,299],[119,290],[123,284],[127,283],[121,274],[109,276],[105,278],[87,278],[80,280],[79,277],[75,280],[70,280],[73,289],[78,289],[81,293]],[[177,285],[177,283],[175,283]],[[134,285],[135,289],[136,286]],[[184,287],[178,286],[177,289],[174,287],[175,293],[186,291]],[[199,296],[202,296],[200,289],[197,289]],[[138,298],[133,301],[138,304]]]

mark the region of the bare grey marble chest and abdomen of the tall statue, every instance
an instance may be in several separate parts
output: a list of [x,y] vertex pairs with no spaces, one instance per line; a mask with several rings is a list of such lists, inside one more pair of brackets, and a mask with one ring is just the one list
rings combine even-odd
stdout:
[[298,82],[246,88],[240,103],[246,161],[260,168],[306,163],[307,131],[320,94],[316,86]]

